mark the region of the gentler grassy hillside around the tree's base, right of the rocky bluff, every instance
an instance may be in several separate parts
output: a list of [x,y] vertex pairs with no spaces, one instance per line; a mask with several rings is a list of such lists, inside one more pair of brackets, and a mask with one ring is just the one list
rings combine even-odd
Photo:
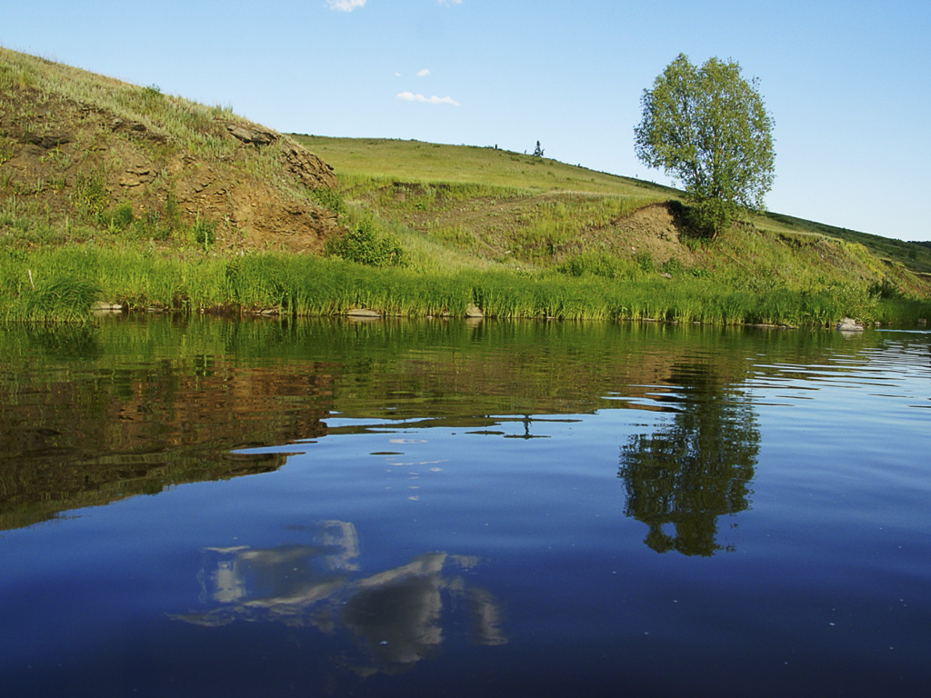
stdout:
[[924,297],[931,289],[920,275],[931,270],[931,250],[917,243],[767,214],[707,245],[689,235],[682,193],[650,182],[496,148],[294,138],[331,162],[346,199],[399,230],[426,267],[688,272],[749,290],[857,284]]

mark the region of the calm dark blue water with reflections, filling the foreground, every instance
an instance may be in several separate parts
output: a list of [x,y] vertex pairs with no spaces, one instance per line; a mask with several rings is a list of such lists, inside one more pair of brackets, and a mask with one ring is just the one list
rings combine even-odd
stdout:
[[927,695],[929,346],[0,332],[3,694]]

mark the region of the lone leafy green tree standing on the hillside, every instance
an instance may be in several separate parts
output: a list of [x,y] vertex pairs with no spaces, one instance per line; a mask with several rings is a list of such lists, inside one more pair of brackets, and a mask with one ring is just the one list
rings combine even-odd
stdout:
[[774,122],[758,87],[735,60],[711,58],[698,68],[679,54],[643,90],[637,157],[681,182],[693,225],[712,238],[740,210],[762,210],[773,186]]

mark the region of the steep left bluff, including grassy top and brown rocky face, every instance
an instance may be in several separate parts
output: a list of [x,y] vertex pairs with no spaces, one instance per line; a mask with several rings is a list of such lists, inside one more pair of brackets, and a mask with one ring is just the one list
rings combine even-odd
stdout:
[[0,94],[0,198],[20,219],[132,219],[176,240],[205,221],[220,248],[317,251],[335,230],[306,195],[335,185],[331,168],[228,109],[5,48]]

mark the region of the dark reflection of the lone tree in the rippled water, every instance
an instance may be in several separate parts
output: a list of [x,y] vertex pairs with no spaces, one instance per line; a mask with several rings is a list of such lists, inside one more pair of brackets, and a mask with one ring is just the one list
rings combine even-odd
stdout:
[[669,381],[677,392],[662,401],[674,416],[621,447],[624,513],[650,527],[644,543],[656,552],[707,557],[721,549],[718,517],[749,508],[760,433],[749,402],[712,367],[679,365]]

